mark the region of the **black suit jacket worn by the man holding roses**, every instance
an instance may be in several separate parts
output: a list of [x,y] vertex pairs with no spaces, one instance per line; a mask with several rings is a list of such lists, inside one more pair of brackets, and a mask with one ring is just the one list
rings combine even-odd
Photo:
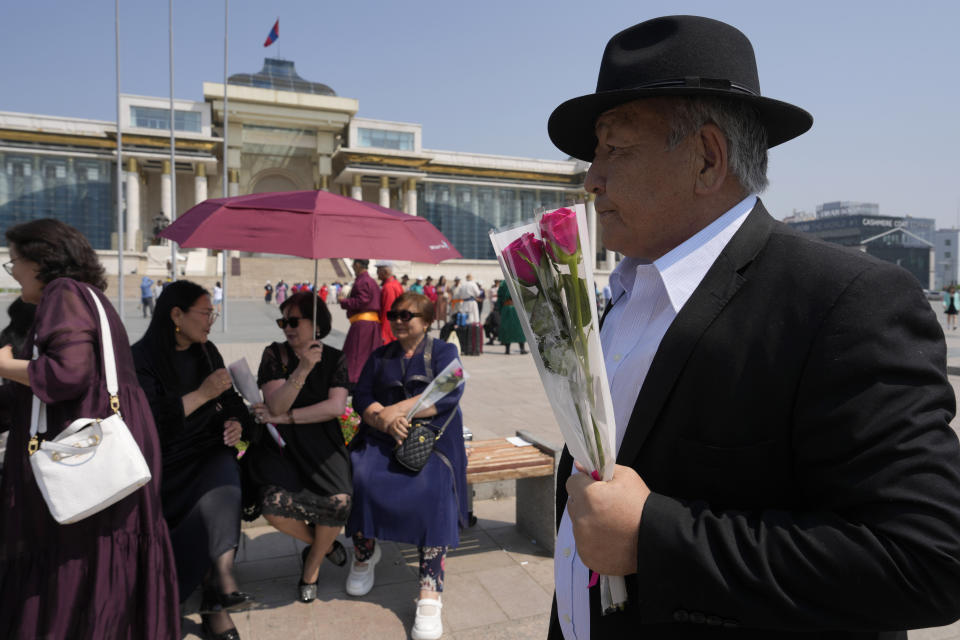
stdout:
[[639,390],[617,462],[653,494],[630,606],[602,617],[593,589],[592,637],[899,638],[960,617],[945,369],[910,274],[758,202]]

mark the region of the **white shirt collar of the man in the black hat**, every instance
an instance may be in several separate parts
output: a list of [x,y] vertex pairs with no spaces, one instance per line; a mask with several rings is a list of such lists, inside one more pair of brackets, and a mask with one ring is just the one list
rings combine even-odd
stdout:
[[[690,299],[720,252],[727,246],[756,204],[757,196],[750,194],[722,216],[653,262],[663,280],[674,312],[679,312]],[[646,260],[624,258],[614,268],[610,273],[610,291],[614,301],[633,290],[637,270],[648,264],[650,262]]]

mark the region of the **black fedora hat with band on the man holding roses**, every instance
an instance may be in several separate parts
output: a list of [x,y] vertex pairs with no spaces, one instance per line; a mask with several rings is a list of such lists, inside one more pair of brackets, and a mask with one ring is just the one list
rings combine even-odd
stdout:
[[813,124],[813,116],[800,107],[760,95],[753,46],[743,33],[710,18],[667,16],[613,36],[600,62],[596,93],[554,109],[547,131],[561,151],[591,161],[600,114],[653,96],[723,96],[748,102],[767,131],[769,147]]

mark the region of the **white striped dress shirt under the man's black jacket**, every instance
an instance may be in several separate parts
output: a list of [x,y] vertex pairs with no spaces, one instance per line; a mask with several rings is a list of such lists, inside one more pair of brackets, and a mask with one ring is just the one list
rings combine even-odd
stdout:
[[[664,334],[753,210],[750,195],[654,262],[626,258],[610,274],[613,307],[600,331],[617,425],[617,450]],[[573,471],[576,473],[576,469]],[[590,637],[590,571],[563,512],[554,550],[557,615],[566,640]]]

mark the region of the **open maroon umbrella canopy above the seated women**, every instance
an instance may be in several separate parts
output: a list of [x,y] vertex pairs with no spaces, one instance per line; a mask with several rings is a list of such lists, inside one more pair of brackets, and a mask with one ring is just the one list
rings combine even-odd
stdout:
[[182,247],[439,263],[460,258],[425,218],[326,191],[211,198],[160,232]]

